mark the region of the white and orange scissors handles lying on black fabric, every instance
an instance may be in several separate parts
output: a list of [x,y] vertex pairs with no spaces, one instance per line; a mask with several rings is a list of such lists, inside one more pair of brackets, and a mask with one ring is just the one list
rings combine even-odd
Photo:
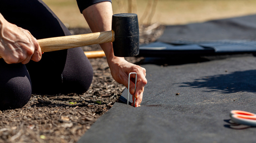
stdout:
[[232,110],[230,111],[229,116],[235,123],[256,126],[256,114],[240,110]]

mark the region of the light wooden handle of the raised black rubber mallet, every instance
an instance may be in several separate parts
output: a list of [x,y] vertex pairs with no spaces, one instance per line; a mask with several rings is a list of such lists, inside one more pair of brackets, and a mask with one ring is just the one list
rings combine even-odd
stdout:
[[[113,42],[114,40],[115,32],[111,30],[81,35],[46,38],[37,41],[41,47],[42,52],[51,52],[93,44]],[[0,56],[0,58],[2,57]]]

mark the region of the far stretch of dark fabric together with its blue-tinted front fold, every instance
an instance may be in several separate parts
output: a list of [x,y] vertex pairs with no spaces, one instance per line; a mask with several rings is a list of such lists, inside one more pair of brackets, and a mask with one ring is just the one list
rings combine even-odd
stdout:
[[256,15],[166,26],[157,42],[141,45],[139,56],[205,56],[256,52]]

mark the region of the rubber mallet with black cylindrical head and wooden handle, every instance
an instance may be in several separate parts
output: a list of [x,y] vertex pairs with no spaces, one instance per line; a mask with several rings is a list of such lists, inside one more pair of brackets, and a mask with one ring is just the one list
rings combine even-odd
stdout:
[[113,42],[115,56],[137,56],[139,55],[138,16],[134,13],[114,14],[111,31],[53,37],[37,41],[42,52]]

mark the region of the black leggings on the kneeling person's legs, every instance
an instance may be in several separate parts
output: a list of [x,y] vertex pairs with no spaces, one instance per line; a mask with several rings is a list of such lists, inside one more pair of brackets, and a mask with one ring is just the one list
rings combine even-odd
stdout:
[[[71,35],[41,0],[1,0],[0,13],[36,39]],[[32,93],[84,93],[92,78],[92,66],[81,48],[46,52],[39,62],[26,65],[0,59],[0,110],[24,106]]]

